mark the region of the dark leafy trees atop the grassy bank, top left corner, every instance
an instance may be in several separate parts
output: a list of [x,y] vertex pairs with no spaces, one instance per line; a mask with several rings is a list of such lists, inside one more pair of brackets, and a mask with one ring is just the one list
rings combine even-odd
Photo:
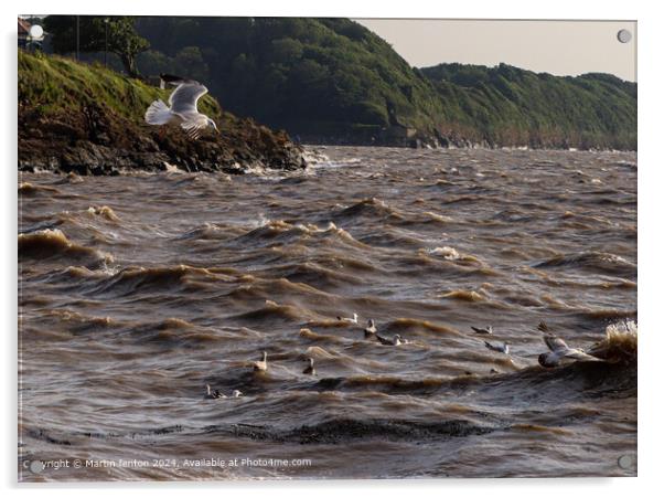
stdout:
[[[53,49],[58,53],[76,51],[76,15],[49,15],[44,27],[53,35]],[[136,57],[150,47],[133,27],[131,17],[78,15],[78,50],[109,52],[118,55],[127,74],[138,76]],[[107,31],[108,30],[108,31]],[[107,36],[108,34],[108,36]]]

